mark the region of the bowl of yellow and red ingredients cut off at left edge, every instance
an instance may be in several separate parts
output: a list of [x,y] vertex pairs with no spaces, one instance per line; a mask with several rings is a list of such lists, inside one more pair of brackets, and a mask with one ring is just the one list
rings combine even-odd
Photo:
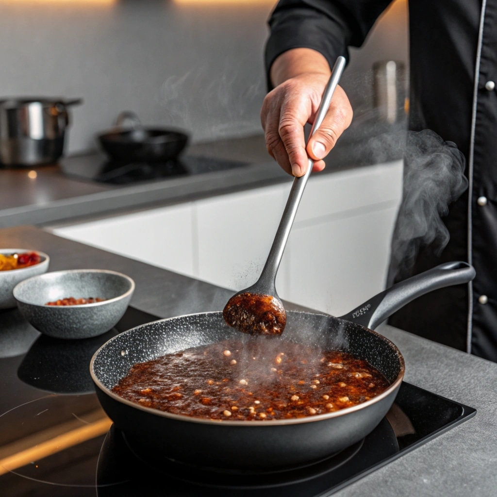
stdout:
[[16,306],[12,290],[17,283],[47,272],[50,257],[38,250],[0,248],[0,309]]

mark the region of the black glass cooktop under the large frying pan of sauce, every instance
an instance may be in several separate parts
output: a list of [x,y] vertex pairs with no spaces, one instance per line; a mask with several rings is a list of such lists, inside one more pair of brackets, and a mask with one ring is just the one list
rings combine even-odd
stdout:
[[17,310],[0,312],[0,495],[328,496],[476,413],[404,382],[368,436],[309,466],[217,474],[136,453],[101,410],[88,365],[109,338],[156,319],[128,308],[115,329],[70,341],[41,335]]

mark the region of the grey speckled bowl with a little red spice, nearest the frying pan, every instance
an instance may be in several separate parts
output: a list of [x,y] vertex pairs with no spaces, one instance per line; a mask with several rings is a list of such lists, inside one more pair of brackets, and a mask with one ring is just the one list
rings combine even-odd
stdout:
[[[74,269],[34,276],[13,291],[21,314],[38,331],[55,338],[89,338],[109,331],[122,317],[135,290],[125,274]],[[101,298],[77,306],[47,306],[64,298]]]

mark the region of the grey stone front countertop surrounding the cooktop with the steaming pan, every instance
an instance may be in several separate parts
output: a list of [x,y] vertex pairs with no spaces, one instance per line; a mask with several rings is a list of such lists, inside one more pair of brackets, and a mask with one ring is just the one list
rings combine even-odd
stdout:
[[[161,317],[220,310],[233,293],[62,239],[34,227],[0,230],[0,246],[35,248],[47,252],[51,256],[52,271],[83,267],[122,271],[136,282],[131,304]],[[475,417],[336,495],[495,495],[497,364],[389,326],[383,326],[380,331],[396,343],[403,353],[406,360],[406,381],[474,407],[478,412]],[[24,346],[29,347],[29,343]],[[19,395],[2,389],[1,413],[18,405],[21,400]]]

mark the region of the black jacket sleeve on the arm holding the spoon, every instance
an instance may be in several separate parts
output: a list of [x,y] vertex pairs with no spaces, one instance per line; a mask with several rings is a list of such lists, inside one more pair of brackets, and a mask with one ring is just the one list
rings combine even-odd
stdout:
[[392,0],[280,0],[269,18],[265,67],[292,48],[322,53],[330,67],[339,55],[348,61],[347,47],[363,44],[369,30]]

